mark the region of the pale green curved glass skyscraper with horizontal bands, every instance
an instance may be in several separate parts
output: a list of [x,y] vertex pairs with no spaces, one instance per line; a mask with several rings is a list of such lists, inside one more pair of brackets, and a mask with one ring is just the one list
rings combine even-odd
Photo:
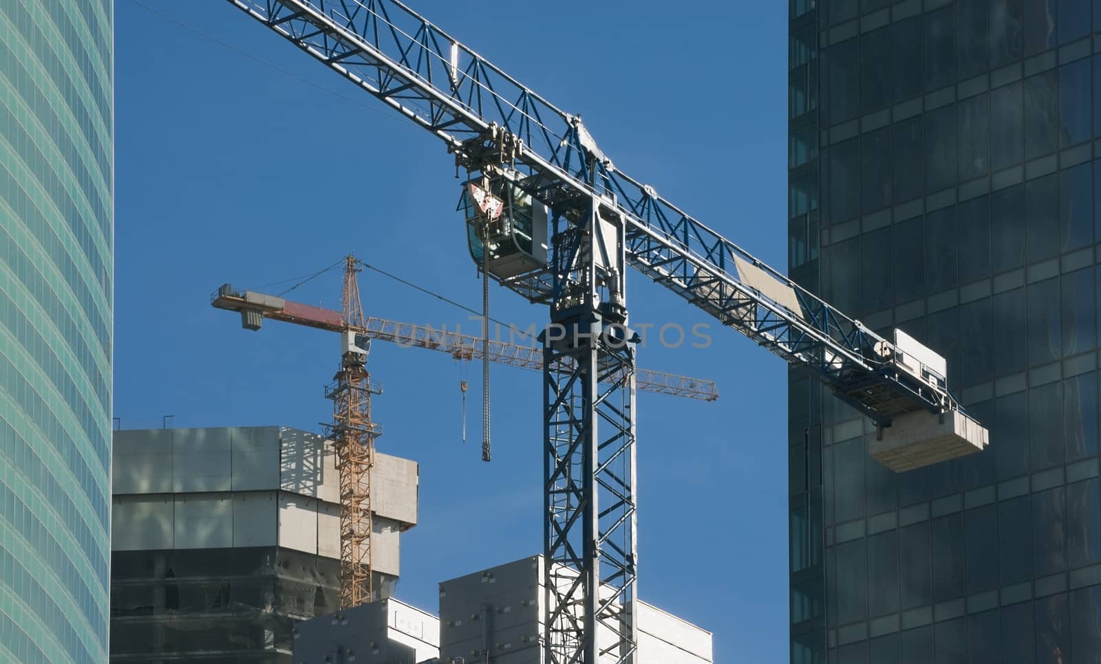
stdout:
[[111,0],[0,0],[0,661],[106,662]]

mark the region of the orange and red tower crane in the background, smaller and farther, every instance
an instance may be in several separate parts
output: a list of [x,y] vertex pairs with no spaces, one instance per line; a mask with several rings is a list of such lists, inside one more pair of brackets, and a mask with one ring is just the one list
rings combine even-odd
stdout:
[[[528,369],[543,369],[543,350],[520,344],[435,330],[426,325],[364,317],[356,275],[360,263],[344,259],[342,311],[293,302],[281,297],[237,290],[224,284],[210,298],[218,309],[238,311],[241,327],[259,330],[263,319],[338,332],[340,368],[325,396],[333,401],[333,423],[327,424],[336,452],[340,478],[340,608],[351,608],[373,598],[371,566],[371,468],[374,439],[382,430],[371,419],[371,396],[382,394],[371,380],[367,359],[371,341],[448,353],[456,359],[486,359]],[[636,370],[639,389],[704,401],[719,398],[712,380],[663,372]]]

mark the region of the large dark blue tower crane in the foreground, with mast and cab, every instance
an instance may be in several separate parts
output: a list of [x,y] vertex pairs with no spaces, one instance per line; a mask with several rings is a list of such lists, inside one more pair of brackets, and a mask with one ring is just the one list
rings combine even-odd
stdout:
[[443,141],[467,173],[460,207],[476,264],[549,306],[548,664],[637,661],[628,266],[821,380],[875,424],[869,450],[892,469],[986,444],[939,355],[900,331],[889,340],[869,330],[691,218],[613,165],[580,115],[400,0],[227,1]]

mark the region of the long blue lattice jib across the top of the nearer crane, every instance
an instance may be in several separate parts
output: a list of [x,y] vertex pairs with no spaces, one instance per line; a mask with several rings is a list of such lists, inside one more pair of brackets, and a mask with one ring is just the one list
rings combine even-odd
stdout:
[[[942,376],[617,169],[580,118],[556,108],[399,0],[229,0],[313,57],[440,137],[470,171],[501,164],[553,214],[579,198],[612,201],[628,225],[626,261],[786,362],[875,422],[915,407],[960,410]],[[750,284],[741,259],[784,285],[798,308]],[[549,262],[553,264],[553,261]],[[495,278],[549,302],[547,269]],[[772,292],[771,295],[775,295]]]

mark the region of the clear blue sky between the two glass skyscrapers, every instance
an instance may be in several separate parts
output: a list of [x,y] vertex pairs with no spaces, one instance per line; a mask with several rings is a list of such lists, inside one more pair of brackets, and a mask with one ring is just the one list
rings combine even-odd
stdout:
[[[786,3],[682,0],[413,7],[559,108],[617,167],[785,267]],[[306,275],[349,251],[477,306],[453,158],[224,0],[116,3],[115,414],[124,428],[318,430],[337,339],[209,307],[220,284]],[[293,281],[292,281],[293,284]],[[279,291],[286,286],[268,290]],[[470,325],[374,273],[369,314]],[[712,321],[637,273],[632,319]],[[288,298],[340,306],[339,274]],[[494,288],[494,317],[546,321]],[[640,366],[707,377],[715,403],[639,397],[640,597],[715,632],[717,661],[787,654],[786,367],[735,332],[708,348],[650,343]],[[494,458],[479,460],[480,367],[375,344],[382,452],[421,463],[421,521],[397,596],[435,610],[437,584],[542,547],[539,375],[495,366]]]

